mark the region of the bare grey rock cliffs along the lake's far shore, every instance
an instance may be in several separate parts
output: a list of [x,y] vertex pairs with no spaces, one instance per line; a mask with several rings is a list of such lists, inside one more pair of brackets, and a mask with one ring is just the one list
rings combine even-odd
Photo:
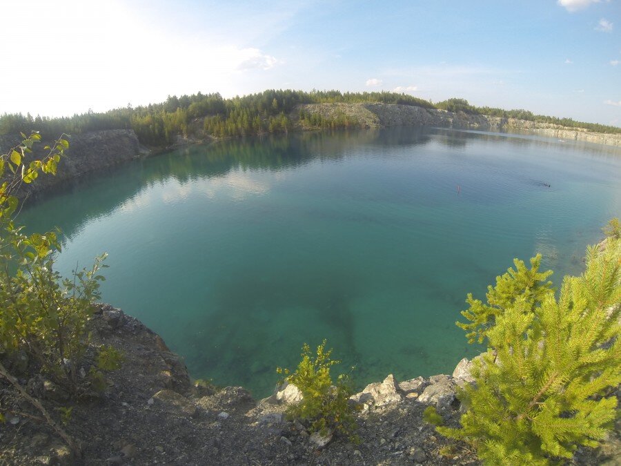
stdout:
[[[299,113],[319,114],[322,117],[346,115],[353,117],[363,128],[388,126],[435,126],[489,131],[506,131],[551,137],[562,141],[582,141],[592,144],[606,144],[621,147],[621,135],[593,133],[581,128],[566,128],[555,124],[543,124],[514,118],[471,115],[463,112],[448,112],[398,104],[307,104],[298,106],[290,118],[298,130],[307,130],[299,123]],[[202,128],[201,122],[194,126]],[[55,177],[39,177],[37,183],[22,186],[19,197],[39,195],[55,186],[63,186],[70,179],[77,179],[86,173],[103,171],[131,159],[148,157],[163,151],[211,141],[213,137],[197,130],[195,136],[178,135],[168,148],[146,148],[138,141],[134,130],[101,130],[74,135],[70,138],[68,157],[61,162],[61,170]],[[6,153],[19,144],[19,137],[0,137],[0,153]]]

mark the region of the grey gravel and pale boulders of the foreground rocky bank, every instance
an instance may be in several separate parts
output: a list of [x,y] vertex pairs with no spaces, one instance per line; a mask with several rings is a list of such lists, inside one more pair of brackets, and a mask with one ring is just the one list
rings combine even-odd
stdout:
[[[254,400],[242,387],[217,389],[190,382],[186,366],[164,340],[120,309],[100,305],[89,322],[91,348],[111,344],[123,351],[121,369],[109,374],[108,389],[87,400],[68,395],[41,376],[11,370],[31,396],[55,412],[72,407],[68,434],[79,440],[82,457],[45,424],[27,402],[0,382],[3,407],[15,414],[0,429],[0,463],[6,465],[477,465],[466,445],[442,438],[422,420],[435,405],[448,425],[460,418],[455,391],[469,383],[471,362],[459,362],[451,376],[397,381],[388,375],[353,396],[362,443],[341,436],[309,434],[284,411],[299,400],[293,385]],[[88,358],[85,366],[88,366]],[[88,367],[84,367],[88,371]],[[13,403],[13,405],[11,405]],[[32,412],[30,412],[32,411]],[[618,430],[598,450],[579,449],[569,464],[618,464]]]

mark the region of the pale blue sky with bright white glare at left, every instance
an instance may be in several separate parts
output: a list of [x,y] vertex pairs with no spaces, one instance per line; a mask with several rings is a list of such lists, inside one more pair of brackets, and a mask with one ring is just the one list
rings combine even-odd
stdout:
[[397,90],[621,126],[621,0],[0,0],[0,114]]

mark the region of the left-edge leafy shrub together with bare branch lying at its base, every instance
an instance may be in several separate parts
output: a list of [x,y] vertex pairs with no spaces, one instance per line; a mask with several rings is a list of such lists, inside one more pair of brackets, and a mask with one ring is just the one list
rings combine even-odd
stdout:
[[[61,244],[55,232],[25,233],[17,223],[19,201],[15,192],[30,184],[39,173],[55,175],[57,164],[69,147],[65,135],[43,148],[37,158],[41,137],[22,135],[23,141],[0,155],[0,378],[10,383],[21,398],[36,407],[44,420],[77,452],[74,443],[59,426],[55,416],[43,408],[35,385],[55,387],[46,391],[64,401],[77,400],[93,388],[105,389],[103,372],[115,369],[120,354],[103,348],[95,367],[86,376],[83,360],[88,349],[86,324],[92,303],[99,298],[99,270],[106,255],[95,258],[90,269],[76,270],[71,278],[55,271]],[[41,380],[23,386],[15,375]],[[62,395],[61,395],[62,394]],[[3,402],[0,415],[11,414]],[[69,422],[71,407],[57,407],[57,417]]]

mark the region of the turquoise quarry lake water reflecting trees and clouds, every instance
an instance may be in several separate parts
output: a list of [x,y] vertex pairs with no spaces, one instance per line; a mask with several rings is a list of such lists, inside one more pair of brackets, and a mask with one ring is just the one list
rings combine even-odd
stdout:
[[[59,166],[59,170],[62,166]],[[388,128],[188,146],[81,179],[21,212],[59,227],[57,269],[108,252],[102,299],[195,378],[267,396],[302,344],[358,387],[451,373],[455,327],[513,258],[580,273],[621,215],[621,148]]]

